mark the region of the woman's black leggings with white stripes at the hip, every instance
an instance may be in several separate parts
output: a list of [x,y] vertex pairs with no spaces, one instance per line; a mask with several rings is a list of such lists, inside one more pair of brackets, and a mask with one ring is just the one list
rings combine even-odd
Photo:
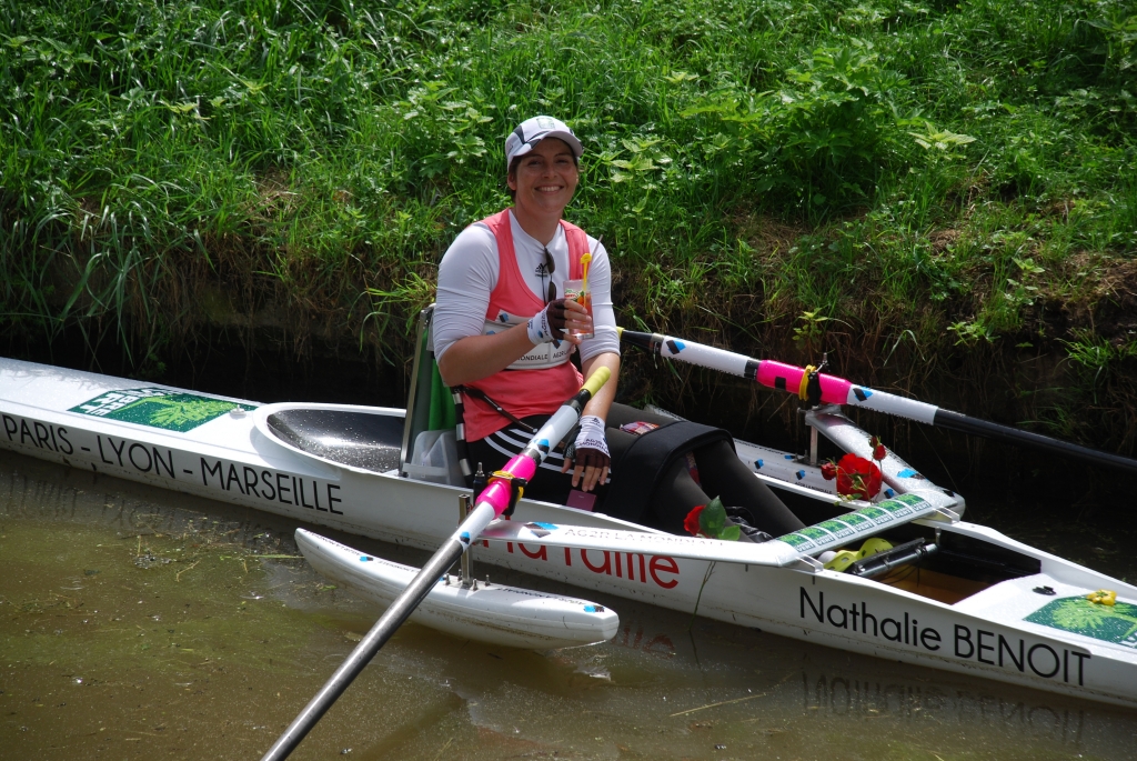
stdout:
[[[524,422],[537,428],[546,420],[547,416],[533,415],[525,417]],[[637,421],[657,425],[671,422],[662,415],[622,404],[613,404],[606,421],[608,447],[613,454],[626,448],[636,440],[636,435],[621,431],[620,427]],[[528,433],[509,425],[498,435],[471,441],[468,444],[471,464],[476,468],[480,462],[484,471],[491,473],[504,466],[509,458],[509,455],[503,453],[501,449],[517,454],[524,448],[524,441],[528,439]],[[695,479],[691,478],[686,458],[680,458],[657,481],[650,514],[645,515],[641,522],[671,533],[687,533],[683,529],[683,519],[687,518],[687,514],[696,506],[705,505],[714,497],[719,497],[727,507],[747,508],[754,516],[755,528],[775,537],[796,531],[805,526],[782,504],[782,501],[770,487],[750,472],[725,441],[715,441],[698,447],[694,454],[699,483],[696,483]],[[546,465],[555,465],[556,470],[550,470],[548,466],[538,469],[537,475],[525,489],[525,496],[565,504],[572,489],[572,471],[567,473],[556,472],[559,470],[561,463],[561,453],[550,453]],[[620,473],[613,473],[612,478],[620,478]],[[607,488],[604,486],[596,489],[596,512],[606,512],[604,505],[606,491]]]

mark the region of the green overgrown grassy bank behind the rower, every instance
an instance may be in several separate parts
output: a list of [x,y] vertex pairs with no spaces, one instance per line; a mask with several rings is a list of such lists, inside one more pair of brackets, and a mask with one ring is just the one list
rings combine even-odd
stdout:
[[1120,0],[8,3],[0,325],[150,375],[217,324],[399,363],[536,113],[624,324],[1134,452]]

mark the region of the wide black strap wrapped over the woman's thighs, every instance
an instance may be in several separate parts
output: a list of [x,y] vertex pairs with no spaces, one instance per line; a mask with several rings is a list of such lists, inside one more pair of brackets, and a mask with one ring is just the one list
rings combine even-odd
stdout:
[[686,420],[636,437],[622,452],[613,452],[613,478],[604,498],[604,512],[625,521],[644,522],[659,478],[675,460],[720,440],[735,448],[730,432]]

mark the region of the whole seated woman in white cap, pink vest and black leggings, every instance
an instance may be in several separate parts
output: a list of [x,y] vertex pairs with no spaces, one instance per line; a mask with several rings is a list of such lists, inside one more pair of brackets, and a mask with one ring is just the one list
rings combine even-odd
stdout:
[[[603,512],[682,532],[688,512],[708,502],[700,488],[702,475],[706,489],[722,495],[727,504],[744,505],[752,514],[757,510],[761,529],[777,535],[800,528],[802,522],[722,437],[714,440],[706,435],[692,456],[657,458],[658,470],[647,477],[637,475],[634,458],[628,458],[624,478],[629,480],[622,494],[642,491],[626,488],[637,477],[647,491],[640,501],[646,514],[628,514],[626,498],[620,505],[604,504],[612,463],[609,440],[620,456],[637,447],[638,436],[671,421],[613,405],[620,339],[608,256],[598,240],[562,220],[580,181],[580,140],[564,123],[537,116],[509,134],[505,152],[514,206],[466,228],[439,266],[434,355],[446,384],[463,389],[471,461],[489,472],[524,447],[530,430],[583,382],[570,362],[579,350],[584,375],[606,366],[612,380],[584,407],[574,444],[564,455],[550,453],[526,496],[591,510],[599,493],[597,507]],[[591,317],[584,307],[566,301],[562,288],[564,280],[580,278],[581,257],[587,253],[591,254]],[[645,437],[644,442],[664,438]],[[657,498],[648,506],[653,494]]]

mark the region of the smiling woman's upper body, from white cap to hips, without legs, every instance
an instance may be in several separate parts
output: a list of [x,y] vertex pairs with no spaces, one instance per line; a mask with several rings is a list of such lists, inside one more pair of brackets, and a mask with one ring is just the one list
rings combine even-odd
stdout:
[[[600,242],[562,220],[583,154],[572,130],[537,116],[509,134],[505,150],[514,207],[464,230],[443,257],[434,351],[446,383],[463,391],[471,454],[487,465],[516,454],[513,437],[501,432],[511,422],[551,414],[580,387],[574,350],[586,375],[600,366],[612,371],[613,382],[584,408],[573,456],[557,455],[562,462],[542,466],[530,486],[530,496],[563,503],[570,487],[591,491],[607,480],[604,421],[620,371],[611,270]],[[586,266],[591,313],[564,290]],[[555,475],[570,469],[571,485]]]

